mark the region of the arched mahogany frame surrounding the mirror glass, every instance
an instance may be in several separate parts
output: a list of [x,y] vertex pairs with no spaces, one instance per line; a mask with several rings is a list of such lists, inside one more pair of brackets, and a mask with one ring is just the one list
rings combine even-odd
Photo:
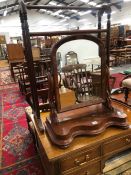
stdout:
[[[56,61],[56,52],[57,49],[62,45],[65,44],[69,41],[75,41],[75,40],[87,40],[87,41],[92,41],[95,44],[98,45],[98,54],[99,57],[101,59],[101,99],[98,102],[93,101],[92,103],[88,103],[87,102],[83,102],[83,103],[79,103],[79,104],[75,104],[66,108],[61,109],[61,103],[60,103],[60,94],[59,94],[59,83],[58,83],[58,71],[57,71],[57,61]],[[107,71],[107,65],[106,65],[106,49],[104,47],[103,42],[97,38],[96,36],[93,35],[86,35],[86,34],[76,34],[76,35],[71,35],[71,36],[66,36],[64,38],[62,38],[60,41],[58,41],[51,50],[51,61],[52,61],[52,71],[53,71],[53,86],[54,86],[54,92],[55,92],[55,101],[56,101],[56,107],[57,107],[57,112],[63,112],[66,110],[72,110],[72,109],[76,109],[76,108],[81,108],[81,107],[85,107],[85,106],[90,106],[90,105],[94,105],[94,104],[98,104],[98,103],[102,103],[102,102],[106,102],[106,98],[107,98],[107,93],[106,93],[106,89],[107,89],[107,78],[109,76],[109,72]],[[102,89],[103,87],[103,89]]]

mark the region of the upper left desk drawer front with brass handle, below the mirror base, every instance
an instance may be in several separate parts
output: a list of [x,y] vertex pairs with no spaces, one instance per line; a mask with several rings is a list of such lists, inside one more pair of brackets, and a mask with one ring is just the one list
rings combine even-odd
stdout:
[[68,155],[67,157],[61,160],[61,171],[63,172],[71,168],[86,165],[89,161],[100,157],[100,155],[101,155],[100,146],[90,150],[89,148],[86,150],[80,150],[77,153]]

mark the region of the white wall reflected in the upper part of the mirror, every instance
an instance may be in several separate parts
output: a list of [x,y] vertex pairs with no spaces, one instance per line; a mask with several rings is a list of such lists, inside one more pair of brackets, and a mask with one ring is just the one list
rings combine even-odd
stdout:
[[77,53],[79,63],[100,63],[98,45],[92,41],[79,39],[64,43],[57,50],[61,52],[62,66],[65,65],[65,54],[69,51]]

